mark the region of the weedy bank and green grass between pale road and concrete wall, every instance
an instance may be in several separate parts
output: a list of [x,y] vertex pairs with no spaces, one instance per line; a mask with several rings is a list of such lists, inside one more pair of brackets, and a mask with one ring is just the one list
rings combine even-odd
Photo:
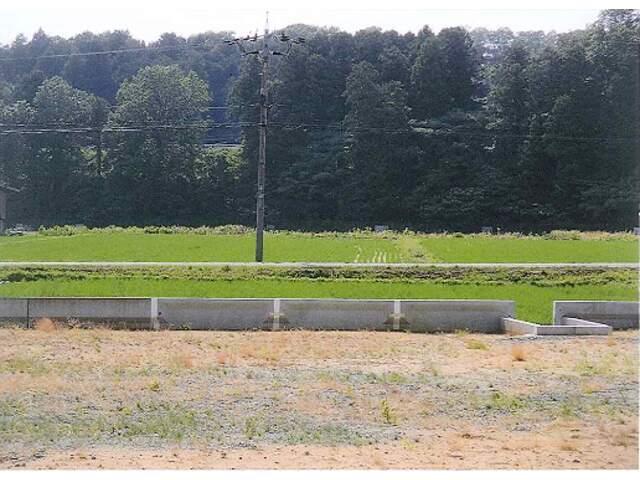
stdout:
[[318,297],[515,300],[549,323],[554,300],[636,300],[634,269],[129,267],[0,270],[0,296]]

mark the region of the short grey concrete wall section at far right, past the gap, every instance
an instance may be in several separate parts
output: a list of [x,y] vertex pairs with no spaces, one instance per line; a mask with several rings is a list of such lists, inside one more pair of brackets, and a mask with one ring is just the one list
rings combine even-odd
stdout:
[[553,323],[577,318],[609,325],[614,329],[638,328],[638,302],[557,301],[553,302]]

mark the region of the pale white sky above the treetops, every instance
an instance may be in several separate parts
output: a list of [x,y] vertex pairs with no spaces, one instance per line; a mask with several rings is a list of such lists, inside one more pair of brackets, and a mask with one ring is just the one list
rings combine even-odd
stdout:
[[[483,0],[482,5],[487,8],[482,10],[477,8],[478,2],[458,0],[315,0],[313,3],[305,0],[243,0],[242,3],[108,0],[95,2],[98,6],[91,3],[91,0],[0,0],[0,44],[10,43],[20,33],[30,38],[39,28],[49,35],[63,37],[87,30],[96,33],[129,30],[134,37],[147,42],[156,40],[164,32],[189,36],[212,30],[245,35],[263,30],[266,10],[271,29],[307,23],[335,26],[348,32],[373,25],[400,33],[417,32],[424,25],[436,32],[458,25],[565,32],[584,28],[596,19],[599,9],[605,8],[603,2],[595,0],[520,1],[518,9],[514,9],[516,2],[513,1]],[[610,6],[606,8],[612,8],[612,2],[607,3]]]

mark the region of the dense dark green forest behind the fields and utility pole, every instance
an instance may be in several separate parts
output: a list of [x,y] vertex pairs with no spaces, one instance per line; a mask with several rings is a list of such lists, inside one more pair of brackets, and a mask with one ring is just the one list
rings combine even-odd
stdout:
[[[267,224],[637,224],[639,11],[565,34],[285,31],[306,42],[272,60]],[[39,31],[0,47],[9,221],[252,225],[260,66],[229,38]]]

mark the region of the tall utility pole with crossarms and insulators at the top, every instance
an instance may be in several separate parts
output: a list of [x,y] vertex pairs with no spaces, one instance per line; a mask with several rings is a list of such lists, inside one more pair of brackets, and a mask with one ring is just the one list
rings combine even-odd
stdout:
[[[262,66],[260,74],[260,118],[258,121],[259,146],[258,146],[258,192],[256,194],[256,262],[262,262],[264,258],[264,188],[266,183],[267,171],[267,123],[269,120],[269,60],[272,55],[288,56],[291,47],[294,44],[305,43],[304,38],[297,37],[292,39],[284,32],[280,35],[269,34],[269,13],[267,12],[267,21],[265,22],[264,35],[262,35],[262,48],[260,50],[248,51],[245,47],[246,42],[256,43],[258,35],[253,37],[236,38],[228,40],[229,45],[237,45],[243,56],[257,55]],[[269,45],[270,40],[277,40],[281,44],[286,44],[287,48],[284,52],[275,50]]]

